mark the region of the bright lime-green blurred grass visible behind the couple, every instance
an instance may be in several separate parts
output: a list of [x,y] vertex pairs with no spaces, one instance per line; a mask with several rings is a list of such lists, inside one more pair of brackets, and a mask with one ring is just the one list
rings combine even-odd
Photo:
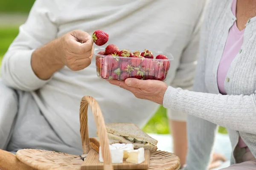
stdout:
[[[18,34],[18,27],[0,27],[0,62],[2,56],[6,53],[9,45],[15,39]],[[160,106],[154,116],[148,121],[147,125],[143,128],[147,133],[169,133],[169,121],[166,116],[166,109]],[[224,127],[220,127],[218,130],[220,133],[227,133]]]

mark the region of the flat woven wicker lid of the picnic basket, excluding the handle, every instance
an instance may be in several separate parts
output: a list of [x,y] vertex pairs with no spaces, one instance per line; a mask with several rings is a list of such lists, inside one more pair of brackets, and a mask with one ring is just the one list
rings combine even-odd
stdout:
[[[38,170],[80,170],[80,156],[47,150],[23,149],[16,154],[25,164]],[[180,159],[165,151],[151,152],[148,170],[179,170]]]

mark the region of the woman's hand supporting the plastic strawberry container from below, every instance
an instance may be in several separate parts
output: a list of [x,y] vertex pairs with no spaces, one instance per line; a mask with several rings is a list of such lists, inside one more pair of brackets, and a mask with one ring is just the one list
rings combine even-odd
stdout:
[[147,99],[163,105],[163,96],[168,86],[159,80],[140,80],[135,78],[125,79],[125,82],[118,80],[107,80],[112,85],[117,85],[128,91],[139,99]]

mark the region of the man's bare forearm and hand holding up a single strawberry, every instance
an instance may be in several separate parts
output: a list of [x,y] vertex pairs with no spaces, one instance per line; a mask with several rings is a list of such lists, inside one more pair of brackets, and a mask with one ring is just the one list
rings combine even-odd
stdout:
[[34,73],[49,79],[64,65],[73,71],[88,67],[93,57],[93,39],[84,31],[75,30],[36,49],[31,58]]

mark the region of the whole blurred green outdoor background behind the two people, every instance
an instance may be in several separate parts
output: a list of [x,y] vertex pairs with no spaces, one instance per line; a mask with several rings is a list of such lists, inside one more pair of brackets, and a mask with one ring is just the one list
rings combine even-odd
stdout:
[[[9,45],[17,36],[19,26],[26,21],[34,2],[35,0],[0,0],[0,63]],[[160,106],[143,130],[147,133],[171,133],[166,109],[163,106]],[[219,132],[227,133],[223,127],[219,128]]]

